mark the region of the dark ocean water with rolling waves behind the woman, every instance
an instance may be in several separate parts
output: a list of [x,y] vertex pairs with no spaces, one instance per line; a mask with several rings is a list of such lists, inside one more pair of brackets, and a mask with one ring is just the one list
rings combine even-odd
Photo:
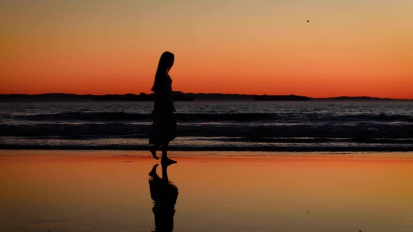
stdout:
[[[413,101],[177,101],[171,150],[413,151]],[[0,148],[145,150],[152,102],[0,103]]]

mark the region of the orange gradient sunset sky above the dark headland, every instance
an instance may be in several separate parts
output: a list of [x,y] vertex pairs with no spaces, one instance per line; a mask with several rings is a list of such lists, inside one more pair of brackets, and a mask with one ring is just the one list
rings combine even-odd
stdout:
[[[413,1],[0,2],[0,94],[174,90],[413,99]],[[310,22],[307,22],[310,20]]]

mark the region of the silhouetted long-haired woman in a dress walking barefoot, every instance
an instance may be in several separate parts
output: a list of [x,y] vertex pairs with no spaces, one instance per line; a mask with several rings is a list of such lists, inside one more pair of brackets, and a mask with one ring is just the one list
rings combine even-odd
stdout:
[[155,120],[152,125],[149,144],[153,158],[158,159],[156,150],[162,145],[162,164],[173,164],[176,161],[167,157],[169,141],[176,137],[176,121],[174,118],[174,103],[172,101],[172,79],[169,70],[174,65],[174,54],[164,52],[158,64],[152,91],[155,93],[155,104],[153,114]]

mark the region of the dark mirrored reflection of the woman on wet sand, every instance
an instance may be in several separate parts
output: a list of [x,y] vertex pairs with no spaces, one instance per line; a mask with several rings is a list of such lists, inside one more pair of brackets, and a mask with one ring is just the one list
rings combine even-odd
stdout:
[[155,216],[154,232],[172,232],[178,188],[168,180],[167,165],[162,165],[162,179],[156,173],[156,167],[158,164],[155,164],[149,173],[149,190]]

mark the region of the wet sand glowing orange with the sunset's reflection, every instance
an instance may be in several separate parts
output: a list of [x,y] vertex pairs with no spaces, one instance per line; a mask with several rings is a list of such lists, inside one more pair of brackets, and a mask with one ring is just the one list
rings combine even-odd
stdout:
[[0,231],[413,231],[412,152],[170,154],[0,150]]

